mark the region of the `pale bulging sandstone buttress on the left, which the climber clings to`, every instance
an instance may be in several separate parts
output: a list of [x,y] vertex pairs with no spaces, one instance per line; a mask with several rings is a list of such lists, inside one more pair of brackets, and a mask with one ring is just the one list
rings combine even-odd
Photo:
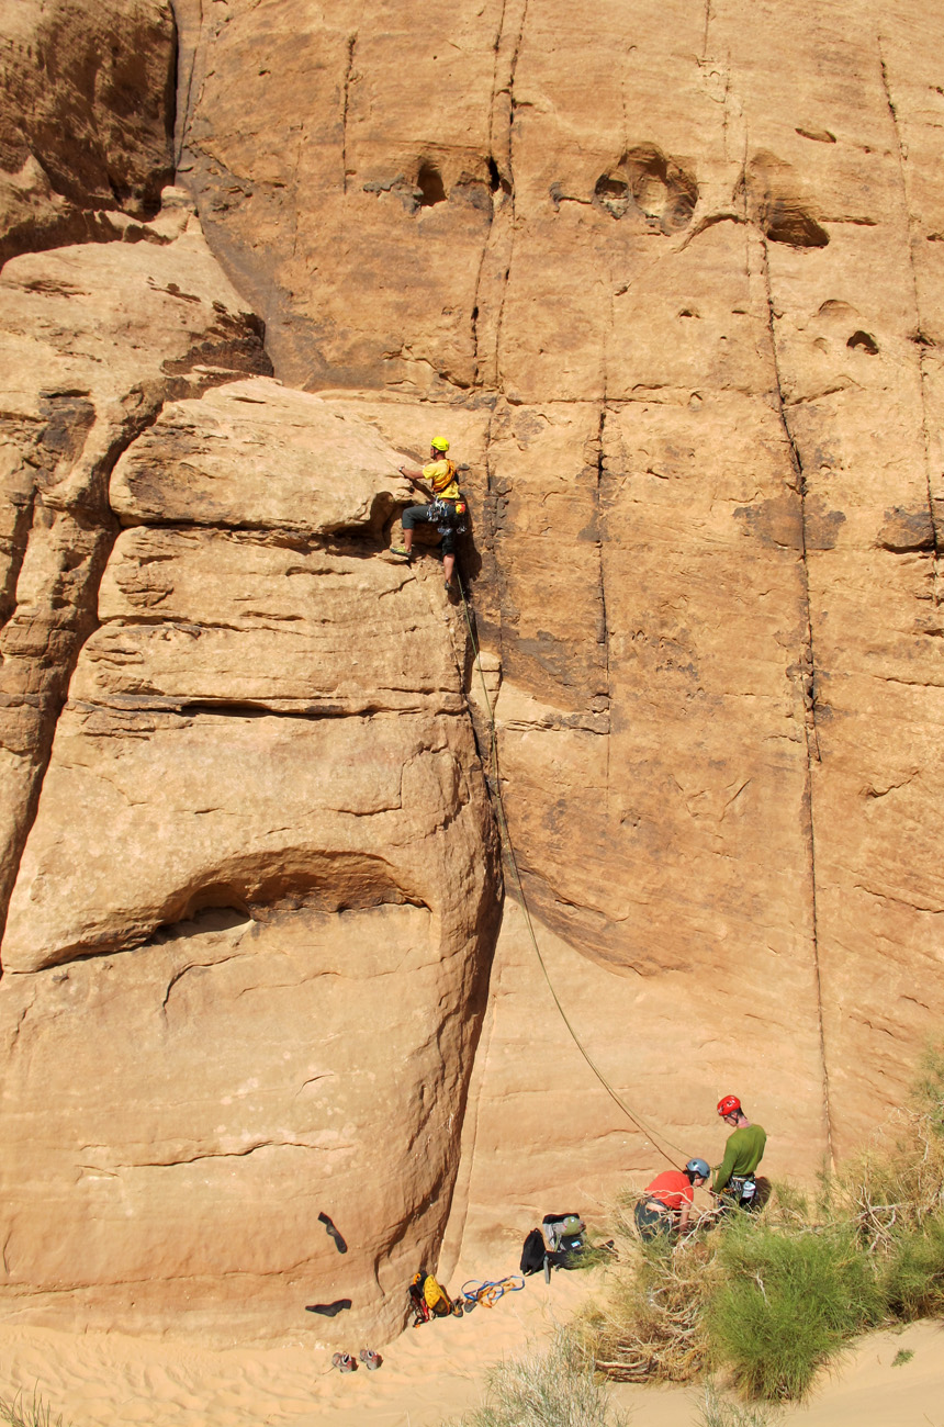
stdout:
[[[10,123],[39,151],[108,17],[56,33],[46,87],[50,14],[19,19]],[[171,41],[160,6],[108,31],[155,121]],[[20,247],[94,245],[0,275],[0,1296],[30,1321],[384,1340],[445,1229],[496,932],[465,636],[441,581],[379,557],[402,457],[270,378],[185,194],[141,211],[167,133],[134,91],[124,126],[116,84],[83,91],[86,190],[56,208],[108,201],[90,134],[137,187],[93,234],[34,215]]]

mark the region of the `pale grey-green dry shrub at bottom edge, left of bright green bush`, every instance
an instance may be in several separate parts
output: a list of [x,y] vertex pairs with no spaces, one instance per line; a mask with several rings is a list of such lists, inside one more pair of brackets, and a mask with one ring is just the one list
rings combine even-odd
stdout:
[[461,1427],[625,1427],[625,1418],[579,1341],[558,1331],[548,1351],[532,1349],[493,1367],[483,1406]]

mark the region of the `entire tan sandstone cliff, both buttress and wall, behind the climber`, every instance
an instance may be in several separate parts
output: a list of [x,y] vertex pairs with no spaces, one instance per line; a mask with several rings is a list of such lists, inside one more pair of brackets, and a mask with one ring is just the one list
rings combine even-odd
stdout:
[[[940,1026],[944,71],[907,0],[174,10],[173,147],[133,0],[70,7],[123,83],[21,60],[0,134],[7,1294],[257,1331],[354,1284],[389,1330],[451,1206],[446,1260],[657,1159],[516,913],[468,1092],[489,712],[438,567],[378,554],[433,431],[525,889],[610,1079],[709,1157],[736,1089],[811,1176]],[[154,215],[173,164],[200,223]]]

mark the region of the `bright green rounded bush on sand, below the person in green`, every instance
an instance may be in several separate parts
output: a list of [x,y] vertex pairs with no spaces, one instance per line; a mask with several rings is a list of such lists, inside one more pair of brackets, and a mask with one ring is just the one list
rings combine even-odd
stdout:
[[712,1356],[754,1397],[801,1397],[830,1354],[884,1317],[878,1276],[847,1227],[784,1233],[743,1219],[719,1259]]

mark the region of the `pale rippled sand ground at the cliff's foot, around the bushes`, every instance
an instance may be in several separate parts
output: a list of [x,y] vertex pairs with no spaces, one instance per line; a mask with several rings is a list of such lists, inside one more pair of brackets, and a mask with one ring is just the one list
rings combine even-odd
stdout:
[[[29,1401],[39,1388],[66,1427],[439,1427],[481,1401],[491,1363],[565,1323],[586,1289],[585,1274],[529,1279],[493,1309],[408,1330],[382,1350],[379,1371],[348,1376],[329,1368],[315,1334],[210,1350],[193,1339],[0,1326],[0,1393]],[[913,1356],[893,1366],[903,1351]],[[623,1386],[613,1396],[629,1427],[700,1427],[699,1388]],[[944,1324],[871,1334],[776,1424],[944,1427]]]

